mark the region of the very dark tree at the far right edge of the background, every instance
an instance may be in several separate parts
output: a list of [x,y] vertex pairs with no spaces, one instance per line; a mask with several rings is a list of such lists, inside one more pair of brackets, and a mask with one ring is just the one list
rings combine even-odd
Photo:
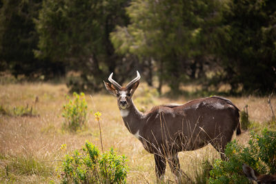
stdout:
[[276,81],[275,1],[230,1],[221,27],[226,31],[217,47],[224,68],[220,82],[236,92],[269,93]]

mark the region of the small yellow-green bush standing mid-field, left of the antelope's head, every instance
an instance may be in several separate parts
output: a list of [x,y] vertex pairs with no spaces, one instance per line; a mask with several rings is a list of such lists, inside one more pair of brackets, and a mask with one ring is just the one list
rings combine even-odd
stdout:
[[76,132],[87,121],[88,106],[83,92],[80,95],[74,92],[73,97],[74,99],[72,100],[67,96],[68,103],[63,105],[62,116],[65,118],[63,128],[71,132]]

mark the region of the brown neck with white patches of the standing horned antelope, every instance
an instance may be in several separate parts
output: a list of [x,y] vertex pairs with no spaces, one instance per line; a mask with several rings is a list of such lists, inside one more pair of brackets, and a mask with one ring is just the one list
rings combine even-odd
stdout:
[[128,108],[120,110],[120,112],[128,131],[139,139],[139,131],[141,131],[141,127],[144,126],[145,122],[144,114],[137,110],[132,101]]

